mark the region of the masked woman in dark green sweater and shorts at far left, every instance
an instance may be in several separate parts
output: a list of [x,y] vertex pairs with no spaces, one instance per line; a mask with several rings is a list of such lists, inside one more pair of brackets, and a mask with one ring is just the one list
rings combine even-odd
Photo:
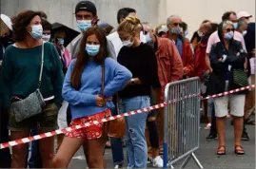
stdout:
[[[16,43],[6,49],[1,75],[4,106],[9,110],[10,138],[17,140],[29,137],[32,129],[37,129],[37,133],[40,134],[57,128],[64,76],[56,48],[42,40],[40,13],[32,10],[22,11],[12,19],[12,23]],[[17,122],[11,103],[24,100],[36,90],[43,56],[44,67],[40,90],[46,106],[43,107],[42,113]],[[44,168],[52,168],[53,143],[54,138],[39,141]],[[12,168],[27,168],[25,165],[28,147],[28,143],[12,147]]]

